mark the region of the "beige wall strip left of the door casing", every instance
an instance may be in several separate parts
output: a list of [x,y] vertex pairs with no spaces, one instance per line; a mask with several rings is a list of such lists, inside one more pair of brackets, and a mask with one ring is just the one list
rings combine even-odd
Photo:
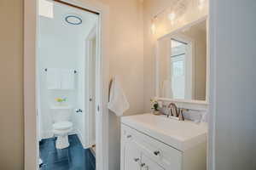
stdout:
[[22,0],[0,1],[0,169],[23,167]]

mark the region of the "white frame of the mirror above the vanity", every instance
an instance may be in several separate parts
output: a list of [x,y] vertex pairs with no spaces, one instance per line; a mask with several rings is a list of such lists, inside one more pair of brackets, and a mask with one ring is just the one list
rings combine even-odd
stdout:
[[[201,23],[202,21],[207,21],[207,77],[206,77],[206,100],[195,100],[195,99],[170,99],[170,98],[160,98],[160,85],[159,85],[159,42],[162,38],[165,37],[172,37],[173,35],[177,34],[177,32],[182,31],[184,29],[187,29],[191,26],[195,26],[198,23]],[[155,99],[161,100],[161,101],[170,101],[174,103],[179,103],[180,105],[189,105],[189,107],[192,109],[194,108],[193,105],[201,105],[201,108],[204,110],[207,110],[207,105],[209,104],[209,85],[210,85],[210,59],[209,59],[209,20],[208,16],[203,16],[199,20],[195,20],[193,22],[190,22],[189,24],[178,28],[175,31],[172,31],[169,34],[166,34],[163,37],[160,37],[157,39],[156,42],[156,50],[155,50]]]

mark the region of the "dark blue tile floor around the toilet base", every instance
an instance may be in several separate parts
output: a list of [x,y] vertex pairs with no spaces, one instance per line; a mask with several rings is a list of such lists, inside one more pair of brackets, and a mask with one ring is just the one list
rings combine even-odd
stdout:
[[90,150],[84,150],[76,134],[69,135],[69,147],[57,150],[55,138],[43,139],[39,144],[43,161],[40,170],[95,170],[96,160]]

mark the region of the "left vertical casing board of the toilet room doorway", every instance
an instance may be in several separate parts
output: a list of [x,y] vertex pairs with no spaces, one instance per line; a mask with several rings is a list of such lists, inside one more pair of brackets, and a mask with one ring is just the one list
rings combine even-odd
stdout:
[[38,169],[36,115],[37,1],[24,0],[24,169]]

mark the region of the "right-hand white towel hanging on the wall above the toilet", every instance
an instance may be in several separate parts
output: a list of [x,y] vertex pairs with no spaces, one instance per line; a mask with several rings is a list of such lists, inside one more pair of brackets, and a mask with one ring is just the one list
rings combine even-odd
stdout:
[[62,69],[61,70],[61,89],[73,90],[74,89],[74,70]]

